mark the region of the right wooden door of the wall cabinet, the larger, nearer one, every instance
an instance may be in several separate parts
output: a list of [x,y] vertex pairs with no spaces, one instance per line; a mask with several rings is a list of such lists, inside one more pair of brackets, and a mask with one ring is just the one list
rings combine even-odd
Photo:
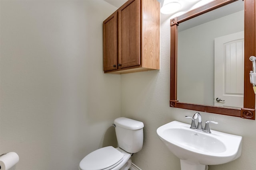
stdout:
[[118,9],[118,67],[140,65],[140,0]]

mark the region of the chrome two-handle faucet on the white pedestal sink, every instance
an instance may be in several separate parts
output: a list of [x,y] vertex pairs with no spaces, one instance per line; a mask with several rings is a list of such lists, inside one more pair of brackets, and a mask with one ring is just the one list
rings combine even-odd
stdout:
[[[190,116],[185,116],[185,117],[192,119],[190,129],[200,130],[205,133],[211,133],[209,123],[218,124],[218,122],[215,122],[215,121],[206,121],[205,127],[203,128],[202,127],[202,117],[199,112],[196,112],[193,117],[190,117]],[[198,120],[197,126],[195,123],[196,120]]]

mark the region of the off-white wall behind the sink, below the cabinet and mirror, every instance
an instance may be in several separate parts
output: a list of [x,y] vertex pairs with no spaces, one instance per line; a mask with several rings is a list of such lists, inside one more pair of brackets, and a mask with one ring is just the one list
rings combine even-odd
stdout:
[[[179,170],[180,161],[160,141],[156,129],[170,121],[191,123],[185,115],[196,111],[170,108],[170,18],[161,16],[160,70],[123,74],[122,116],[144,122],[144,145],[134,154],[132,161],[142,170]],[[256,165],[256,121],[202,113],[203,121],[219,122],[211,125],[214,130],[241,135],[243,137],[242,156],[222,165],[209,166],[209,170],[255,170]]]

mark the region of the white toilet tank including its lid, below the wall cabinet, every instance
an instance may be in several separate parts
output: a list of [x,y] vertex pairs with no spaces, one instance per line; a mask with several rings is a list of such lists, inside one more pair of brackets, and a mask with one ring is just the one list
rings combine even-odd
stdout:
[[144,124],[141,121],[119,117],[114,120],[114,124],[118,147],[129,153],[142,149]]

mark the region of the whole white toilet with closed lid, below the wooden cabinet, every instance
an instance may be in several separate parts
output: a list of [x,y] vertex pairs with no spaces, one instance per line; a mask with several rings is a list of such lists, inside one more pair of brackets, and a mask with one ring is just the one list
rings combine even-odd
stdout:
[[79,170],[128,170],[130,157],[142,149],[143,127],[140,121],[119,117],[114,120],[118,148],[104,147],[86,155]]

